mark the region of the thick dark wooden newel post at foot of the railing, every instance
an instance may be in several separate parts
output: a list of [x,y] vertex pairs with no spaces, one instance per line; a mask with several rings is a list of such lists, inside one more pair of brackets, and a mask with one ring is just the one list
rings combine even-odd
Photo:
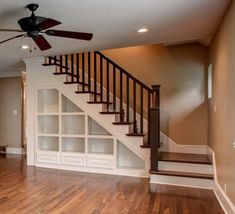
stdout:
[[160,85],[153,85],[152,90],[152,102],[149,109],[150,171],[157,171],[160,145]]

